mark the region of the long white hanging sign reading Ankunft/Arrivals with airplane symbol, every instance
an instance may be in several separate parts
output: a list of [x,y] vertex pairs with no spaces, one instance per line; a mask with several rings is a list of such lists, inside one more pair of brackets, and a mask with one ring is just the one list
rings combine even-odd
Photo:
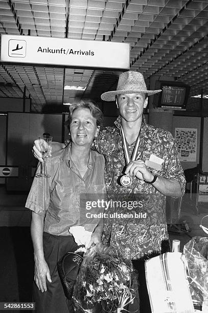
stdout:
[[129,43],[2,35],[1,61],[129,69]]

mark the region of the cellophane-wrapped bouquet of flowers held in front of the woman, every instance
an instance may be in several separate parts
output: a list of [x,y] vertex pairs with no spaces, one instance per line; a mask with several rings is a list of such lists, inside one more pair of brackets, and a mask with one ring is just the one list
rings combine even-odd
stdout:
[[93,311],[100,305],[99,311],[120,312],[133,301],[136,288],[131,261],[99,243],[85,255],[75,282],[73,302],[78,311]]

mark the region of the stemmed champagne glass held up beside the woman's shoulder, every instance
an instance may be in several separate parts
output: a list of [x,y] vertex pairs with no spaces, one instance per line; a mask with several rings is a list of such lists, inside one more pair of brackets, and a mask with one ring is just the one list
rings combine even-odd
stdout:
[[51,177],[49,174],[45,171],[45,160],[49,158],[49,153],[51,151],[51,143],[52,143],[52,136],[40,136],[39,137],[39,145],[40,145],[40,152],[42,154],[43,162],[41,164],[41,170],[40,173],[37,173],[35,176],[39,178],[48,178]]

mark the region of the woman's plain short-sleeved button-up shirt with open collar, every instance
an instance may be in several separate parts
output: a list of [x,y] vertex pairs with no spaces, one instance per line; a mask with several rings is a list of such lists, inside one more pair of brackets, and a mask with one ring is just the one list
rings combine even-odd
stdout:
[[[52,235],[70,235],[71,226],[84,226],[93,231],[100,219],[86,215],[89,213],[86,204],[105,198],[106,194],[103,155],[90,150],[88,168],[82,177],[71,159],[70,146],[53,153],[46,162],[50,178],[34,177],[26,203],[26,208],[45,217],[44,232]],[[96,214],[100,210],[96,207],[90,212]]]

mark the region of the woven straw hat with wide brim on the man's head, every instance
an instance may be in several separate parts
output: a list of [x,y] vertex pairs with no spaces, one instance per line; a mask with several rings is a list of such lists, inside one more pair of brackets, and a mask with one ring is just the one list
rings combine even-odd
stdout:
[[119,76],[116,91],[110,91],[101,95],[104,101],[114,101],[115,95],[145,93],[148,96],[161,92],[161,90],[147,90],[144,76],[139,72],[124,72]]

